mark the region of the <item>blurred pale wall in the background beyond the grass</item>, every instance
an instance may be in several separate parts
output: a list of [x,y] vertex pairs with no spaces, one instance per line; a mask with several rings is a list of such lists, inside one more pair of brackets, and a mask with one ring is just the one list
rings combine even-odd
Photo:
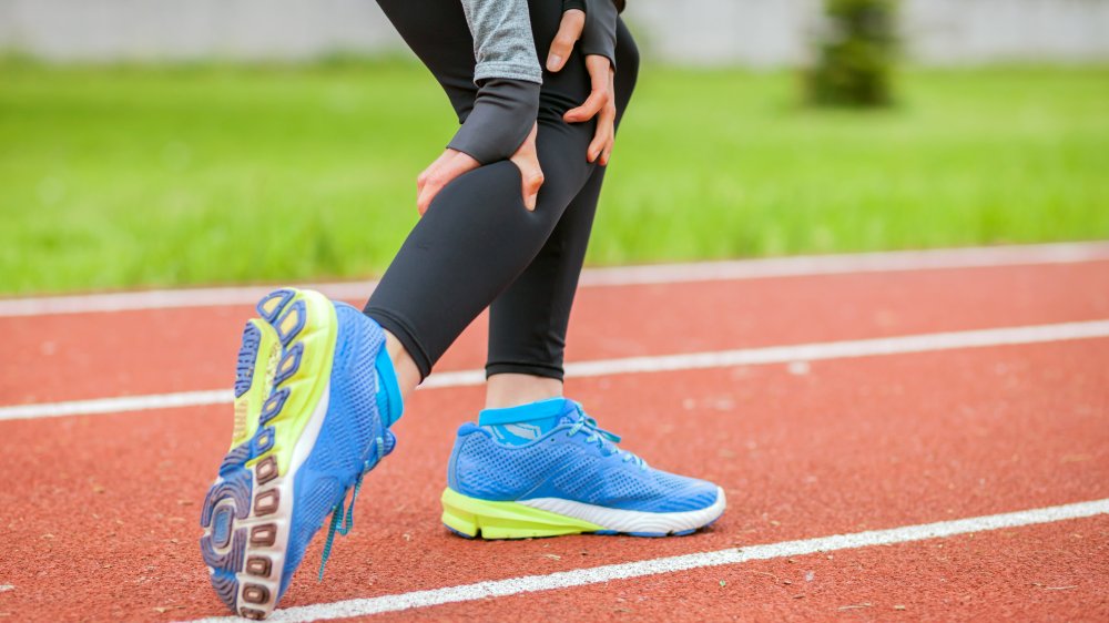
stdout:
[[[655,58],[772,67],[805,58],[820,2],[629,0],[627,18]],[[1109,0],[903,7],[917,61],[1109,60]],[[400,47],[374,0],[0,0],[0,50],[54,60],[301,59]]]

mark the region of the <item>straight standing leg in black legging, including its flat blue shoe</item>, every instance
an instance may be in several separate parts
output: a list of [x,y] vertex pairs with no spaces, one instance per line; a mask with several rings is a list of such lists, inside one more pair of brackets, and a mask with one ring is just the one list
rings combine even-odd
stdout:
[[[627,52],[625,29],[618,41]],[[635,63],[625,55],[618,64],[622,111]],[[477,426],[458,430],[441,498],[444,523],[464,537],[690,534],[726,507],[720,487],[649,467],[617,448],[619,438],[580,405],[560,398],[567,321],[602,181],[603,170],[590,176],[536,259],[492,305],[487,408]]]

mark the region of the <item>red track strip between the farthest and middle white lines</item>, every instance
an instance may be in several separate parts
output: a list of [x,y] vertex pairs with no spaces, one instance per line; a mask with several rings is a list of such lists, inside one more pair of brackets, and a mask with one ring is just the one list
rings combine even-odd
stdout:
[[[234,360],[251,314],[243,306],[0,318],[0,335],[8,337],[0,401],[227,386],[227,361]],[[580,361],[1098,318],[1109,318],[1109,262],[584,288],[574,307],[568,357]],[[437,370],[480,367],[485,336],[481,318]]]

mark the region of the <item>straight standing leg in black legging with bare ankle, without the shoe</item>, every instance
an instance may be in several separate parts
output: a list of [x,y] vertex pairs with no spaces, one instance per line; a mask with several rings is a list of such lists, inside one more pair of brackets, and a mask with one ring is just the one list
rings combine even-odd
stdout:
[[[639,69],[639,51],[622,22],[617,65],[617,109],[622,115]],[[486,408],[511,407],[562,394],[562,353],[570,308],[603,181],[604,168],[598,167],[567,207],[539,255],[490,306]]]

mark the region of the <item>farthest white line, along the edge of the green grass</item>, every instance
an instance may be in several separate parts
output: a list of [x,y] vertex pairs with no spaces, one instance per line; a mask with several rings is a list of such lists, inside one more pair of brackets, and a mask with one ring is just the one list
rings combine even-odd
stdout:
[[[1105,259],[1109,259],[1109,242],[943,248],[662,264],[617,268],[587,268],[582,273],[581,285],[584,287],[601,287],[674,284],[849,273],[887,273],[1029,264],[1075,264]],[[377,282],[340,282],[309,284],[305,287],[318,289],[335,299],[364,300],[374,290],[376,285]],[[273,287],[187,288],[0,299],[0,317],[253,305],[258,298],[272,290]]]

